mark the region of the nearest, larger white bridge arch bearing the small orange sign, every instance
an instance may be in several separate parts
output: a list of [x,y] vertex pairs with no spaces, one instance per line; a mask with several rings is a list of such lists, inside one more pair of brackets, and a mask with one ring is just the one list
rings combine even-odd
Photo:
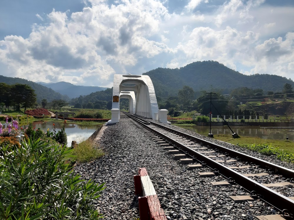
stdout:
[[[153,83],[146,75],[119,75],[113,77],[113,97],[120,97],[121,92],[136,92],[136,108],[134,113],[147,118],[157,119],[158,104]],[[108,123],[119,121],[119,99],[112,101],[111,120]]]

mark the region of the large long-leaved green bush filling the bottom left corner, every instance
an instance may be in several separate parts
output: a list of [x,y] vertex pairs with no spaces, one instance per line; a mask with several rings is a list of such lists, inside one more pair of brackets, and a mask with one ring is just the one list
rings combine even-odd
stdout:
[[71,171],[71,150],[34,138],[14,151],[8,148],[0,148],[0,219],[102,218],[93,201],[103,184],[81,180]]

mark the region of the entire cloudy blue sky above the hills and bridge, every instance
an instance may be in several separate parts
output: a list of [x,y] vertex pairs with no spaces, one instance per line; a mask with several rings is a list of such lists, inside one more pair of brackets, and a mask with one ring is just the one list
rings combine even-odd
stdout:
[[111,87],[114,74],[216,60],[294,79],[293,0],[0,4],[0,75]]

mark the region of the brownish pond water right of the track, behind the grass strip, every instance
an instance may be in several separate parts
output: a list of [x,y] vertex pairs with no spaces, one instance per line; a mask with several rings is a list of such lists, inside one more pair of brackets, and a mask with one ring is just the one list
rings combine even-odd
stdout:
[[[209,133],[209,126],[181,126],[189,131],[196,132],[207,136]],[[288,136],[289,140],[294,141],[294,127],[293,128],[262,128],[259,126],[230,126],[230,128],[240,136],[259,137],[262,139],[285,140]],[[293,131],[292,131],[293,130]],[[211,126],[211,133],[231,135],[232,132],[228,126]]]

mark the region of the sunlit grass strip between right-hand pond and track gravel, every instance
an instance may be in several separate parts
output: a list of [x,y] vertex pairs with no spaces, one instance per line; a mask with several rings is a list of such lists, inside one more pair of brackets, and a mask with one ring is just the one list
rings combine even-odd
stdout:
[[280,149],[294,153],[294,142],[290,141],[261,139],[256,137],[233,138],[229,135],[214,135],[213,137],[217,140],[231,143],[234,145],[271,144],[273,147],[278,147]]

